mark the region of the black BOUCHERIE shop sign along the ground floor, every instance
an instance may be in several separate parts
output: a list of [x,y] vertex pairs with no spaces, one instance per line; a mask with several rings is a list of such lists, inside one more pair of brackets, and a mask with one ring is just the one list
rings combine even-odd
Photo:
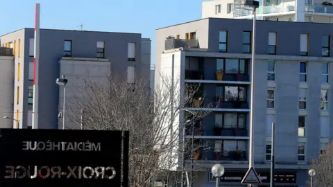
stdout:
[[[271,181],[271,174],[269,172],[257,172],[259,179],[262,183],[269,183]],[[246,171],[244,172],[228,172],[225,171],[223,176],[220,178],[221,182],[241,182],[246,175]],[[208,181],[216,181],[212,172],[209,173]],[[288,173],[280,173],[276,172],[274,175],[275,183],[296,183],[296,173],[288,172]]]

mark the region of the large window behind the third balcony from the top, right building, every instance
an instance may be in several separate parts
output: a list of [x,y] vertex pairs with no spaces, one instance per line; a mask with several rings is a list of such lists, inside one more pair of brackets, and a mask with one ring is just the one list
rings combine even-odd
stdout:
[[216,127],[223,128],[246,128],[246,114],[223,113],[215,114]]

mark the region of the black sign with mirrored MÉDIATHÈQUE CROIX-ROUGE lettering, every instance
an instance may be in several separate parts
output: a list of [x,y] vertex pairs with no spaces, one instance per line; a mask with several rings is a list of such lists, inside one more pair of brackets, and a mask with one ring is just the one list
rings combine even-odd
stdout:
[[1,186],[128,184],[128,132],[1,129],[0,149]]

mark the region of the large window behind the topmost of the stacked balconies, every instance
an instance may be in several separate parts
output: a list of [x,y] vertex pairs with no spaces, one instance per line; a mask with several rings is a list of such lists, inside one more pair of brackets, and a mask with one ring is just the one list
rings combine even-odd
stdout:
[[216,70],[223,71],[226,74],[233,73],[248,73],[248,60],[232,59],[232,58],[218,58],[216,60]]

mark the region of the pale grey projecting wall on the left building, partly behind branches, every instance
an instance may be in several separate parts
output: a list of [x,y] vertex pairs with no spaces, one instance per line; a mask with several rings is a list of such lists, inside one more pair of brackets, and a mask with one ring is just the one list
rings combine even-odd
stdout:
[[[72,58],[62,57],[60,60],[60,75],[65,75],[68,79],[66,85],[66,108],[75,107],[75,98],[80,97],[80,91],[85,90],[85,80],[101,82],[110,76],[111,62],[106,59]],[[59,89],[59,111],[62,111],[63,89]],[[74,101],[74,102],[71,102]],[[65,109],[66,109],[65,108]],[[79,111],[78,111],[79,113]],[[67,113],[65,113],[67,114]],[[65,116],[65,129],[80,128],[79,124],[69,122],[69,116]],[[59,120],[59,128],[62,128],[62,119]]]

